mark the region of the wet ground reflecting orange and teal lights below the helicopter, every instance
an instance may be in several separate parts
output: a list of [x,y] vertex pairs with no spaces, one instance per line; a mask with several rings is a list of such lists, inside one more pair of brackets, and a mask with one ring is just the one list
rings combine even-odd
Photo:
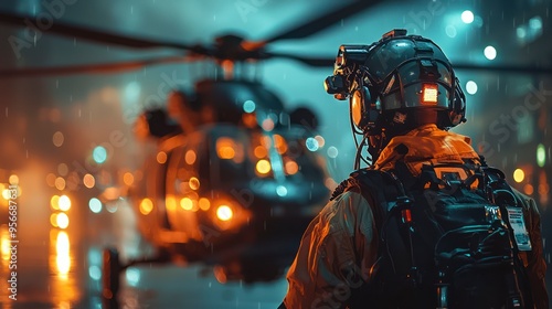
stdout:
[[[9,268],[12,243],[8,225],[1,225],[1,308],[103,308],[103,248],[115,245],[124,256],[140,254],[139,236],[125,205],[115,213],[66,213],[66,228],[54,227],[56,221],[47,215],[46,220],[19,217],[17,269]],[[11,271],[17,271],[17,300],[10,299]],[[286,288],[284,278],[222,285],[211,269],[198,265],[139,265],[123,273],[119,302],[120,308],[276,308]]]

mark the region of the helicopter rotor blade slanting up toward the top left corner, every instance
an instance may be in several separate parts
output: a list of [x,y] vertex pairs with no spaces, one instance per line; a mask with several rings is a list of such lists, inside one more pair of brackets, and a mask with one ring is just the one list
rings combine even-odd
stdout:
[[[31,22],[33,18],[29,15],[22,15],[15,12],[0,11],[0,23],[11,24],[15,26],[29,26],[28,23]],[[63,22],[61,20],[56,20],[55,22],[53,22],[51,26],[47,29],[47,32],[68,38],[84,39],[98,43],[119,45],[124,47],[135,47],[135,49],[172,47],[178,50],[192,51],[200,54],[208,53],[205,49],[197,45],[188,45],[169,41],[137,39],[123,34],[115,34],[112,32],[94,30],[83,25],[71,24]]]

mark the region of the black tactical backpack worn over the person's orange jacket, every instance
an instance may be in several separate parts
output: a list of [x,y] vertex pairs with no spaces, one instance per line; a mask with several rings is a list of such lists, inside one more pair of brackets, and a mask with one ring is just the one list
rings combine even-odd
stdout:
[[350,308],[532,308],[523,209],[500,170],[467,160],[413,177],[397,162],[351,173],[332,199],[348,190],[371,201],[379,233],[378,260]]

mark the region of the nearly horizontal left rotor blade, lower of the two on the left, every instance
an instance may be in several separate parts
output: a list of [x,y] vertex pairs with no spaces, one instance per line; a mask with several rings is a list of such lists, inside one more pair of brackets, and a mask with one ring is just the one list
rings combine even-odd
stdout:
[[0,70],[0,78],[6,77],[41,77],[52,75],[71,75],[71,74],[110,74],[140,70],[149,65],[159,65],[164,63],[189,62],[191,57],[170,56],[160,58],[148,58],[139,61],[116,62],[116,63],[98,63],[70,66],[52,66],[52,67],[28,67],[28,68],[8,68]]

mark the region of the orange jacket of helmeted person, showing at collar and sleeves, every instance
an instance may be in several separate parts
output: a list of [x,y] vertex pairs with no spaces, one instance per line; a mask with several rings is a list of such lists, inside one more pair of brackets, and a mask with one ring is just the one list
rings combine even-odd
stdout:
[[[393,138],[375,162],[375,169],[390,170],[403,161],[408,170],[418,174],[428,162],[463,162],[478,159],[469,145],[470,139],[422,126],[404,136]],[[395,152],[395,146],[407,146],[406,154]],[[535,308],[549,308],[544,275],[540,214],[534,201],[517,193],[529,215],[526,226],[532,251],[522,259],[527,267]],[[367,199],[358,192],[346,191],[330,201],[305,232],[297,256],[288,271],[289,288],[280,308],[348,308],[354,288],[364,283],[376,260],[378,232],[374,214]],[[358,278],[351,275],[357,269]],[[357,308],[357,307],[354,307]],[[371,308],[367,299],[363,308]]]

